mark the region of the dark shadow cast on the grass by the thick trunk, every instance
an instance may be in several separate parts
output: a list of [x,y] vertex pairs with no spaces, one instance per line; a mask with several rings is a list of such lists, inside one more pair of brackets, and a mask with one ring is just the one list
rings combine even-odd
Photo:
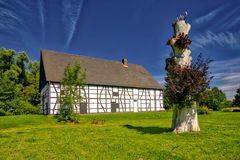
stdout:
[[123,127],[128,129],[133,129],[142,134],[162,134],[167,132],[172,132],[171,128],[164,128],[164,127],[141,127],[141,126],[132,126],[129,124],[123,125]]

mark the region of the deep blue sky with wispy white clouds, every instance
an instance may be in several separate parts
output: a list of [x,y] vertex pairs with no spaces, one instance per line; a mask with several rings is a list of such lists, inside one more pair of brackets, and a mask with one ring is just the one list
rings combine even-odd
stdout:
[[0,47],[41,49],[143,65],[162,85],[172,22],[185,11],[192,56],[214,62],[211,86],[232,99],[240,87],[239,0],[0,0]]

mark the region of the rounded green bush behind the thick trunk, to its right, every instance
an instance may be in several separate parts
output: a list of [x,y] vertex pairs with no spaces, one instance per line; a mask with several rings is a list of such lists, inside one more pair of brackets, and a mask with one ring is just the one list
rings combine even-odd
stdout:
[[204,91],[200,96],[200,105],[207,106],[209,109],[219,111],[231,104],[227,101],[224,92],[217,87]]

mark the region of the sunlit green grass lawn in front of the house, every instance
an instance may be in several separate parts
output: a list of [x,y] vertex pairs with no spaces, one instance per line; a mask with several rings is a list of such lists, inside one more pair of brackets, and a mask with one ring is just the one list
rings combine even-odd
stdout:
[[[98,123],[99,121],[99,123]],[[201,132],[174,134],[171,112],[0,117],[0,159],[240,159],[240,114],[200,115]]]

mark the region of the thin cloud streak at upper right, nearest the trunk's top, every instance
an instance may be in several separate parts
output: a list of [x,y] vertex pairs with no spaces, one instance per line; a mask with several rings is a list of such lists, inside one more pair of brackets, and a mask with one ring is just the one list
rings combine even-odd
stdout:
[[224,10],[226,7],[225,6],[221,6],[217,9],[212,10],[211,12],[196,18],[193,23],[194,24],[201,24],[201,23],[205,23],[208,22],[212,19],[214,19],[222,10]]

